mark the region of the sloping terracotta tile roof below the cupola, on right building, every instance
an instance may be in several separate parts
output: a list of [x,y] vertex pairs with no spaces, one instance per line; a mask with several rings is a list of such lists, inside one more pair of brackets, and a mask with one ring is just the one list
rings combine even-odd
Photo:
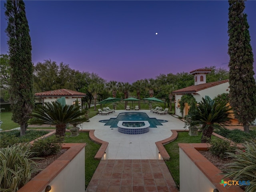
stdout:
[[216,85],[220,85],[222,83],[226,83],[228,82],[228,79],[226,80],[222,80],[222,81],[215,81],[215,82],[210,82],[210,83],[203,83],[203,84],[199,84],[199,85],[192,85],[192,86],[188,86],[182,89],[178,89],[172,92],[172,94],[179,94],[179,93],[196,93],[200,90],[204,90]]

